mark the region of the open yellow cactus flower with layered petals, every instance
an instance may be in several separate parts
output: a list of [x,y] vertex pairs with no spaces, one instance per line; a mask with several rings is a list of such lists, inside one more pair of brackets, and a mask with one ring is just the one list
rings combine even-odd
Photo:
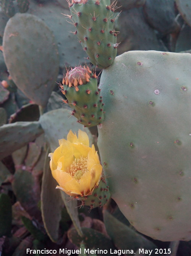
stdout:
[[94,145],[89,147],[86,132],[71,130],[67,140],[59,140],[60,146],[49,154],[52,176],[58,182],[56,188],[71,196],[91,195],[100,182],[102,165]]

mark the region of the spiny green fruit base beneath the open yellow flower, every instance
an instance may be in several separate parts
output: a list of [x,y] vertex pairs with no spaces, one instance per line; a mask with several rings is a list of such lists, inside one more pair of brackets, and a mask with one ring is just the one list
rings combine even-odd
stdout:
[[94,189],[92,195],[76,198],[82,201],[82,206],[88,205],[91,209],[105,205],[110,198],[110,192],[104,177],[101,178],[99,185]]

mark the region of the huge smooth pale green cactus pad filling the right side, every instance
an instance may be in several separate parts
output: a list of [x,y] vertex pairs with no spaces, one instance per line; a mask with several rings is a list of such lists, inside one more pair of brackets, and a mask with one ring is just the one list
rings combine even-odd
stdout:
[[129,51],[100,79],[111,196],[139,232],[162,241],[191,239],[190,66],[189,53]]

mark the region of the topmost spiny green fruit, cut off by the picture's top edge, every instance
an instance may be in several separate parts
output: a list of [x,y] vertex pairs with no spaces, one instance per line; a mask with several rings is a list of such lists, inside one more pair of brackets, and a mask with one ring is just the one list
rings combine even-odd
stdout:
[[74,24],[74,35],[77,34],[89,61],[99,68],[107,68],[117,55],[115,4],[110,4],[110,0],[72,0],[69,7],[71,16],[67,17]]

